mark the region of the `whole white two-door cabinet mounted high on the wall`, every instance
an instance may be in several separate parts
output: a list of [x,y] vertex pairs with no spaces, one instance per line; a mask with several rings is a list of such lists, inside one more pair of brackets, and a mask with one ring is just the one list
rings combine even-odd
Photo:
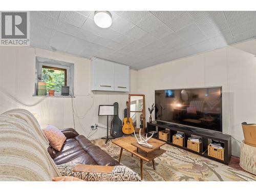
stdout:
[[116,62],[93,58],[92,60],[92,91],[130,90],[130,68]]

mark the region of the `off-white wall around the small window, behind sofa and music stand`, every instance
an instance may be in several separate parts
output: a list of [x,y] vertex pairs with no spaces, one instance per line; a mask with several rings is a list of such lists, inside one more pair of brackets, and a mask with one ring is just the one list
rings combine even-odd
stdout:
[[[113,104],[117,101],[122,119],[129,93],[91,92],[91,60],[33,47],[0,47],[0,114],[10,109],[23,108],[36,113],[42,127],[47,124],[53,124],[59,129],[74,127],[71,98],[32,97],[36,56],[74,63],[73,101],[78,133],[87,136],[94,123],[106,127],[106,117],[98,117],[99,104]],[[137,91],[136,74],[137,71],[130,71],[130,93],[133,94]],[[91,138],[105,135],[106,131],[99,127]]]

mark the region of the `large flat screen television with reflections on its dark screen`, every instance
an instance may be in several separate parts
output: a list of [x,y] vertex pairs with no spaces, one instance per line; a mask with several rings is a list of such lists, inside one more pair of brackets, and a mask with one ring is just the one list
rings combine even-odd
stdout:
[[155,91],[155,120],[222,132],[222,87]]

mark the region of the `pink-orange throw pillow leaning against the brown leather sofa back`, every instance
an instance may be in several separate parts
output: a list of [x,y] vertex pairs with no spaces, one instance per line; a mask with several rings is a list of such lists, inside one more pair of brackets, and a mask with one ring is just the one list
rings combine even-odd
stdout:
[[42,130],[50,142],[50,145],[56,150],[60,151],[63,143],[66,141],[65,135],[53,125],[48,125]]

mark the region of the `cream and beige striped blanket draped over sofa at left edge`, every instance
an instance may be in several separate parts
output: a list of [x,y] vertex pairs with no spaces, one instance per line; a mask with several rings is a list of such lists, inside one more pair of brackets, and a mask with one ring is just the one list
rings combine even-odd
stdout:
[[51,181],[61,176],[48,146],[30,112],[16,109],[0,115],[0,181]]

